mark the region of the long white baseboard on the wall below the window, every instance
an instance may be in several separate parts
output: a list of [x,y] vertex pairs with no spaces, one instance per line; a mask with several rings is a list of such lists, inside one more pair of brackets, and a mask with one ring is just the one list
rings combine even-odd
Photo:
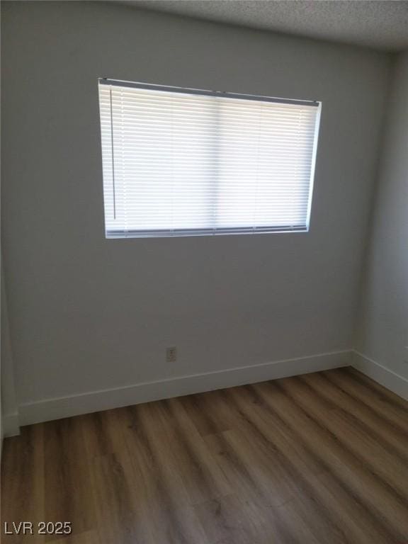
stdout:
[[351,351],[348,350],[229,368],[209,373],[185,375],[155,382],[142,382],[125,387],[116,387],[115,389],[21,404],[19,419],[21,425],[30,425],[42,421],[140,404],[141,402],[181,397],[192,393],[275,380],[293,375],[318,372],[319,370],[329,370],[329,368],[339,368],[350,364]]

